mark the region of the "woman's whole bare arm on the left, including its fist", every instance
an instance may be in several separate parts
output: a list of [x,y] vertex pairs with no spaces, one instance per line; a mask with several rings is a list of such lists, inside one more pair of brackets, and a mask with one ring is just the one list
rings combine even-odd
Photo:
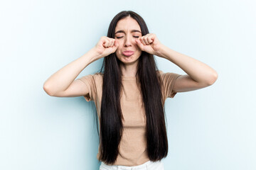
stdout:
[[[90,51],[82,55],[77,60],[70,62],[58,72],[51,75],[43,84],[43,89],[50,96],[57,97],[74,97],[84,96],[88,93],[85,84],[80,80],[75,80],[87,65],[95,60],[105,57],[115,52],[118,42],[114,38],[103,36],[97,45]],[[74,81],[75,80],[75,81]]]

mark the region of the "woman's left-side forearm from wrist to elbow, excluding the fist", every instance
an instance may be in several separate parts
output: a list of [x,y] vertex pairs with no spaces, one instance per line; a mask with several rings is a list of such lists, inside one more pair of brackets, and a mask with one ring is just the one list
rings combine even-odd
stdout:
[[75,80],[87,65],[98,60],[100,56],[95,52],[95,48],[82,55],[77,60],[70,62],[65,67],[51,75],[43,84],[43,89],[50,95],[54,95],[58,91],[65,91],[68,86]]

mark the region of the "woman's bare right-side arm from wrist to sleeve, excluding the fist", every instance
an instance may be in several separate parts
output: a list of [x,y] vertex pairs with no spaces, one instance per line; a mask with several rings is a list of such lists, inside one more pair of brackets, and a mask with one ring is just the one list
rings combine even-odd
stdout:
[[207,64],[171,50],[165,45],[161,45],[158,56],[173,62],[187,73],[187,75],[182,75],[176,79],[174,91],[181,92],[201,89],[212,85],[218,78],[217,72]]

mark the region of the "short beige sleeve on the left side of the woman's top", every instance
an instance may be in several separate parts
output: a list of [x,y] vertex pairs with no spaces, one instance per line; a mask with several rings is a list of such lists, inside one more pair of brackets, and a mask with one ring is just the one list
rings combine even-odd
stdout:
[[78,80],[82,81],[87,87],[89,93],[83,96],[86,101],[94,101],[95,97],[95,75],[89,74],[84,77],[80,77]]

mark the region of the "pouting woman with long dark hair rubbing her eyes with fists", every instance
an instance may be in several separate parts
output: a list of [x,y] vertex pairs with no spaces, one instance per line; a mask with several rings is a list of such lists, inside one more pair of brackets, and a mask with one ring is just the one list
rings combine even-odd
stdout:
[[[153,55],[187,74],[161,72]],[[104,72],[75,79],[102,57]],[[164,169],[161,159],[168,153],[164,101],[177,92],[210,86],[217,77],[203,62],[161,44],[137,13],[122,11],[112,19],[107,37],[53,74],[43,89],[50,96],[84,96],[95,101],[100,169]]]

